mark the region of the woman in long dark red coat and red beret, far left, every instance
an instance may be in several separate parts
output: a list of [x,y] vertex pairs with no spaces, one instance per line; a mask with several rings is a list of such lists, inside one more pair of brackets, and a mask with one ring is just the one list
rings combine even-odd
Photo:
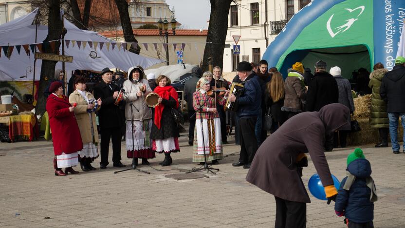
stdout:
[[[51,95],[46,100],[46,111],[48,112],[54,142],[55,176],[66,176],[68,172],[78,173],[72,167],[77,166],[77,152],[83,149],[83,142],[74,118],[74,107],[69,103],[69,99],[63,95],[60,82],[52,82],[49,93]],[[65,172],[61,168],[65,168]]]

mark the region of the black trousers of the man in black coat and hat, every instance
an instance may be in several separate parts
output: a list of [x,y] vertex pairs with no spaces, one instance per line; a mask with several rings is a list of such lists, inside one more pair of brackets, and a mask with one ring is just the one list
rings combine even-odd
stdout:
[[121,161],[121,128],[101,128],[101,162],[100,164],[108,165],[108,151],[110,147],[110,138],[112,141],[112,162]]

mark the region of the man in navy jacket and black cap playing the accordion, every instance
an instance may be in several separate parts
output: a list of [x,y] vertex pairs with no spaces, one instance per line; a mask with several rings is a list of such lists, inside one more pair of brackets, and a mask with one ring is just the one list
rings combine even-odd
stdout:
[[239,79],[244,85],[244,91],[238,100],[235,95],[229,95],[229,100],[235,101],[238,106],[236,114],[239,117],[240,129],[239,161],[232,165],[243,166],[243,169],[249,169],[258,150],[255,125],[260,113],[261,88],[258,76],[252,75],[252,66],[249,62],[240,62],[236,70],[238,71]]

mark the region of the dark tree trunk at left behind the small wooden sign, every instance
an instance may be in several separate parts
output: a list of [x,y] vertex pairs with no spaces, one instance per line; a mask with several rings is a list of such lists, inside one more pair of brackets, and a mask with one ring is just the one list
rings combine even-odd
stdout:
[[[47,43],[49,40],[58,40],[62,35],[63,26],[60,15],[60,3],[60,0],[46,0],[46,4],[48,6],[48,36],[44,40],[45,43]],[[60,42],[56,41],[55,50],[53,51],[50,45],[43,45],[42,52],[58,54],[59,46]],[[48,78],[53,77],[55,74],[55,65],[56,61],[42,60],[36,107],[37,114],[42,115],[45,113],[46,100],[43,92],[49,83]]]

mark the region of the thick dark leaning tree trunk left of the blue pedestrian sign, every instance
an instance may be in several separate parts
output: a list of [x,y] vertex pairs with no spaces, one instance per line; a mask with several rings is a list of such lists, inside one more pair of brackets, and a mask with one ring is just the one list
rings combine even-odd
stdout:
[[[211,14],[209,17],[207,43],[203,57],[203,71],[208,70],[208,58],[211,57],[215,65],[222,68],[223,50],[228,31],[228,14],[233,0],[210,0]],[[215,23],[213,22],[215,21]]]

